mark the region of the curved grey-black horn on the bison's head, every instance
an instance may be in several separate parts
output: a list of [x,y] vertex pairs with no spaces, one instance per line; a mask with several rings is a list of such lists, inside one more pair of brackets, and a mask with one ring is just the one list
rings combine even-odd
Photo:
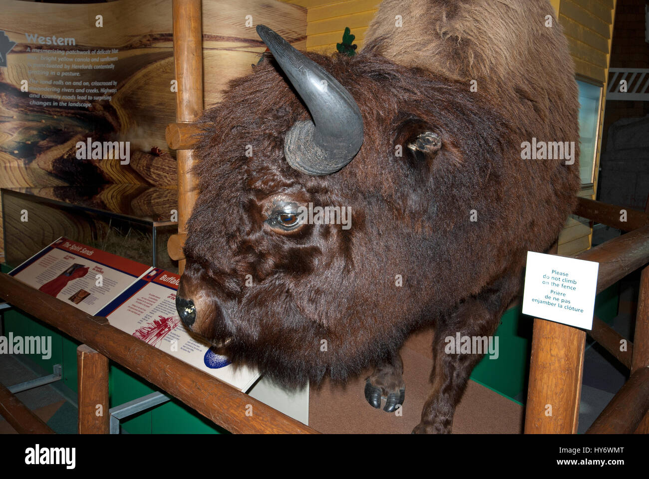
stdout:
[[298,121],[286,133],[289,165],[307,175],[330,175],[356,156],[363,144],[363,117],[354,97],[327,71],[265,25],[257,33],[275,56],[313,121]]

